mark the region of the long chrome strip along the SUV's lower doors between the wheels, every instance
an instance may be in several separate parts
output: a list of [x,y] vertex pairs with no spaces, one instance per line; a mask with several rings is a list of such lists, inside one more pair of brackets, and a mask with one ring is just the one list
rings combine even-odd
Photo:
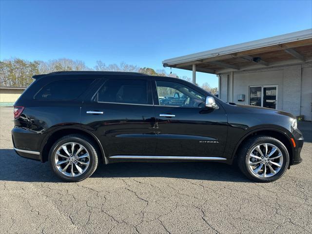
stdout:
[[132,159],[182,159],[182,160],[226,160],[224,157],[198,157],[198,156],[134,156],[116,155],[109,158],[132,158]]

